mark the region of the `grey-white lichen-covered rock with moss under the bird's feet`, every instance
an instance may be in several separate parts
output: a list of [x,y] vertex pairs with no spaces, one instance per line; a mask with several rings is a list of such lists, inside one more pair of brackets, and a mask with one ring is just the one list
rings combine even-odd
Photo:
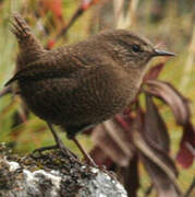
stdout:
[[0,144],[0,197],[126,197],[106,171],[59,150],[20,158]]

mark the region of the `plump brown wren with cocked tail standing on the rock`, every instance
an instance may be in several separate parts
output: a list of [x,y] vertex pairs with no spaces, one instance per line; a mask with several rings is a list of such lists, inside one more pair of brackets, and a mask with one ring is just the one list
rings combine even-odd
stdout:
[[66,132],[94,166],[76,135],[130,105],[151,58],[174,56],[129,30],[103,31],[51,50],[44,48],[19,13],[13,14],[11,31],[20,51],[15,73],[5,85],[17,84],[27,107],[48,124],[56,147],[69,152],[53,125]]

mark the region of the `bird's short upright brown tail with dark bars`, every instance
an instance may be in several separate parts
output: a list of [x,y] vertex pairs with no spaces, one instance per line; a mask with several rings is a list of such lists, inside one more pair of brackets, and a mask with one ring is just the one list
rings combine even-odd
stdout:
[[35,37],[22,15],[14,13],[11,24],[11,32],[16,36],[20,44],[17,67],[22,68],[27,63],[37,60],[46,50],[40,42]]

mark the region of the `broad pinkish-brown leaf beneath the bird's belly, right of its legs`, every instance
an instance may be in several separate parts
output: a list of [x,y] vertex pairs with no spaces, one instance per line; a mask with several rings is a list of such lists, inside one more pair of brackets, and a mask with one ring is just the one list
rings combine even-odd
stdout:
[[114,118],[98,125],[92,134],[94,143],[102,149],[119,166],[127,166],[133,155],[126,131]]

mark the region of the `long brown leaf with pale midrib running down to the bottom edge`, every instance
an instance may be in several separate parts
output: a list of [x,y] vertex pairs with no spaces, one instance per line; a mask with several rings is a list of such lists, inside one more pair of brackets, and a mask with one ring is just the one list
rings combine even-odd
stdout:
[[[169,158],[168,153],[147,140],[142,131],[142,117],[139,115],[135,119],[135,130],[133,134],[133,141],[136,146],[141,160],[143,161],[148,174],[151,176],[153,185],[158,190],[159,197],[164,196],[180,196],[180,188],[176,184],[176,169],[173,161]],[[141,129],[141,130],[138,130]]]

